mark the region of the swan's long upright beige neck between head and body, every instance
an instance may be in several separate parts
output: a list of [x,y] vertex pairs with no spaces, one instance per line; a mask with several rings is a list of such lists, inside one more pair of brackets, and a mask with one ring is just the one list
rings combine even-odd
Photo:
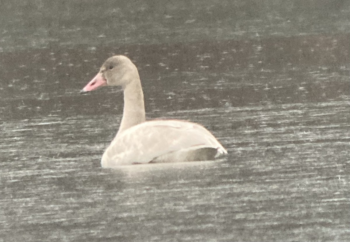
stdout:
[[139,74],[136,72],[131,82],[124,87],[124,111],[118,134],[128,128],[145,122],[144,93],[142,92]]

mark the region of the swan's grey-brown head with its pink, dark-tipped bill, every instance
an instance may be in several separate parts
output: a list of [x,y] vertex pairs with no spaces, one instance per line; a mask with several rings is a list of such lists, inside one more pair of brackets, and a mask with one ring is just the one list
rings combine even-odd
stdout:
[[139,79],[136,66],[126,56],[112,56],[100,68],[97,75],[80,91],[86,93],[100,86],[125,88],[132,80]]

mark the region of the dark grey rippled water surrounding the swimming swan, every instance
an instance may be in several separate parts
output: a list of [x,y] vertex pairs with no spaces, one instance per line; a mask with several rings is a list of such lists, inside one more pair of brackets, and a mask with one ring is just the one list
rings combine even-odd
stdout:
[[[34,2],[2,10],[0,241],[350,240],[349,4]],[[113,54],[229,154],[100,168],[123,94],[79,90]]]

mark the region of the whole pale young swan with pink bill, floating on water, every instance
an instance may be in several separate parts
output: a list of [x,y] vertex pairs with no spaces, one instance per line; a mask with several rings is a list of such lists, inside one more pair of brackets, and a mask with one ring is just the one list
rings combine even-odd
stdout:
[[108,58],[80,93],[102,86],[120,86],[124,90],[123,118],[102,155],[102,167],[214,160],[227,154],[214,135],[200,124],[176,119],[146,121],[139,72],[128,57]]

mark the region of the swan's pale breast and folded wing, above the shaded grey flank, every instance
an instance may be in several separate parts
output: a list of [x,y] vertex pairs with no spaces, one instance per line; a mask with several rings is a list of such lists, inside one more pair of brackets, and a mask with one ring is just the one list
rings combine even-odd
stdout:
[[106,149],[102,166],[148,163],[163,154],[189,149],[225,148],[203,126],[180,120],[153,120],[131,127],[118,135]]

